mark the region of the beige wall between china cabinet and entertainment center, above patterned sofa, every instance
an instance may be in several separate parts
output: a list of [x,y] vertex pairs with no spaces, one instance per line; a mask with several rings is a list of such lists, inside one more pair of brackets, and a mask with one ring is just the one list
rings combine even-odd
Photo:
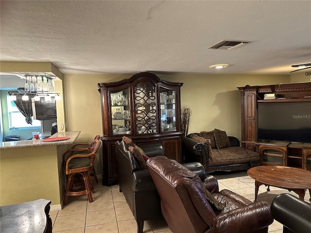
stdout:
[[215,128],[241,140],[241,96],[237,89],[245,85],[289,83],[288,75],[203,75],[161,76],[182,82],[181,105],[191,109],[188,133]]

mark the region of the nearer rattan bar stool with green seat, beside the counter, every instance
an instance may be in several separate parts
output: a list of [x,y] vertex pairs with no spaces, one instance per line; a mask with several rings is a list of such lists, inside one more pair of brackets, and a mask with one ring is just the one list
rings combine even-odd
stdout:
[[[73,154],[71,150],[67,150],[63,155],[63,165],[65,167],[65,173],[67,175],[67,186],[65,191],[64,205],[67,204],[69,196],[87,195],[89,202],[93,202],[91,192],[95,193],[93,183],[91,181],[89,171],[93,168],[93,161],[98,149],[101,146],[101,140],[93,140],[89,144],[89,151],[87,154]],[[77,186],[74,176],[81,174],[83,177],[82,190],[74,190]],[[80,185],[80,184],[79,184]]]

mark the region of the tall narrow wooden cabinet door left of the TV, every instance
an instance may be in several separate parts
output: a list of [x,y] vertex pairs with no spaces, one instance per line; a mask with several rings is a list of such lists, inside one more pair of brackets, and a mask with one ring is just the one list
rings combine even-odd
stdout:
[[256,92],[244,96],[245,141],[256,141]]

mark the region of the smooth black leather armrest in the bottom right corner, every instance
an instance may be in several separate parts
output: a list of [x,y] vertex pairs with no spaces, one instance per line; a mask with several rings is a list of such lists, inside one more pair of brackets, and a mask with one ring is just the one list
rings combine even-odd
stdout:
[[280,194],[272,201],[271,214],[293,232],[310,233],[311,204],[304,200],[288,193]]

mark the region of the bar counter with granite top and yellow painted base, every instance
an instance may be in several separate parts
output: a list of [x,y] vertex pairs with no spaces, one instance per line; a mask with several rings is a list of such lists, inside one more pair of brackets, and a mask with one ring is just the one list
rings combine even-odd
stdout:
[[65,192],[63,153],[72,147],[80,131],[58,132],[63,141],[11,141],[0,144],[0,205],[38,199],[51,200],[60,210]]

